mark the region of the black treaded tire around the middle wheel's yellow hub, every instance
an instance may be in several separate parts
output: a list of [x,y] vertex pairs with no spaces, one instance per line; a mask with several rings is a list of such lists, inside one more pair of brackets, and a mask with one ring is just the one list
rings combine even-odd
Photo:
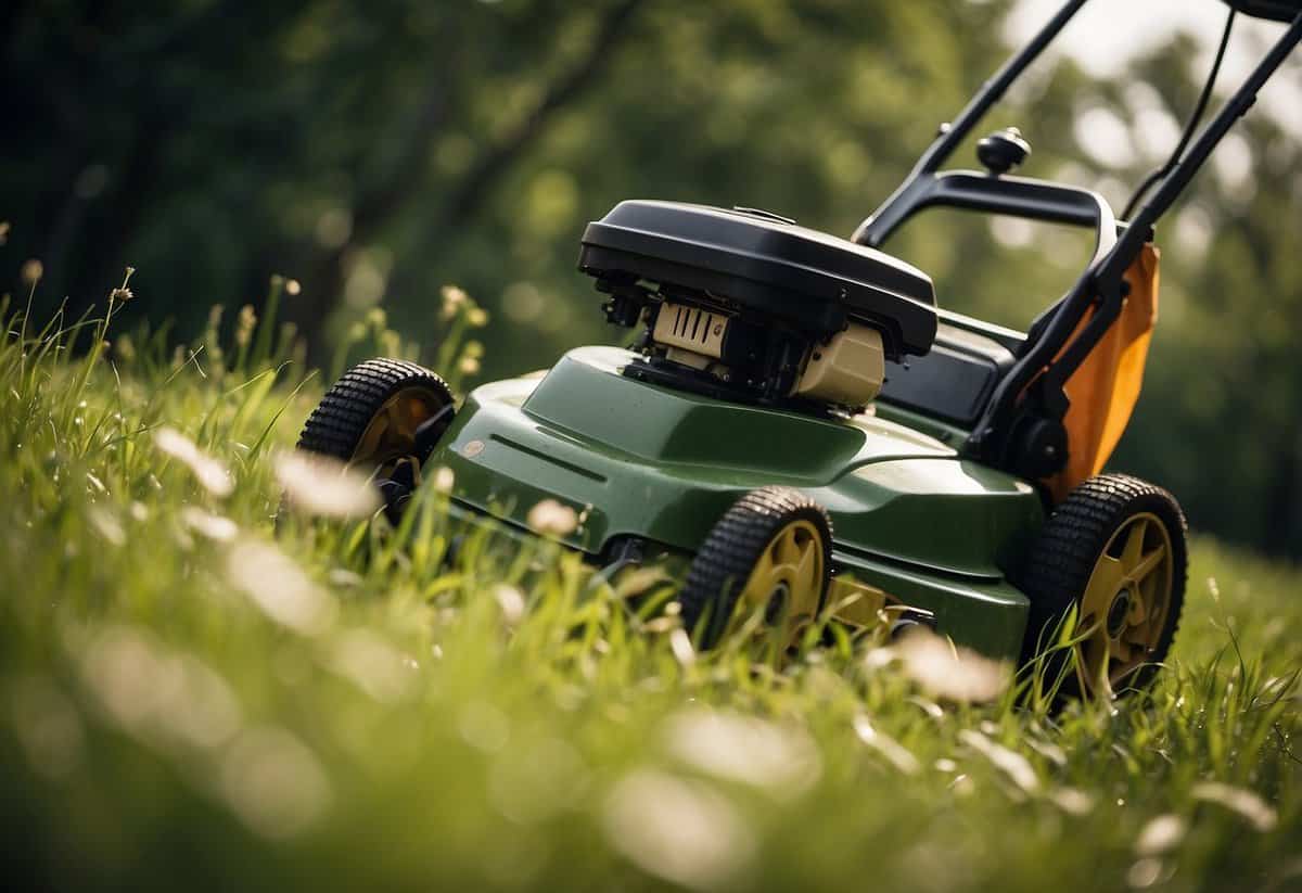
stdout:
[[801,519],[812,522],[823,539],[822,609],[831,579],[832,521],[822,505],[798,489],[762,487],[742,496],[724,513],[687,570],[678,604],[689,633],[695,633],[698,622],[708,613],[699,647],[712,648],[719,643],[763,549],[783,527]]

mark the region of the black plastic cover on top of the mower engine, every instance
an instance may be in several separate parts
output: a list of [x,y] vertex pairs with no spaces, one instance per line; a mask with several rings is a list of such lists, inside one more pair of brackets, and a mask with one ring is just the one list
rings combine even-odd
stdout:
[[891,355],[936,337],[931,279],[881,251],[777,217],[677,202],[620,202],[583,233],[579,269],[708,293],[823,338],[858,319]]

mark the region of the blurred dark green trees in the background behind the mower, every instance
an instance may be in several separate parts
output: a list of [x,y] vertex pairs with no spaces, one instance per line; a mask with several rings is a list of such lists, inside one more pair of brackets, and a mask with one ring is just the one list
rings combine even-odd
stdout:
[[[587,220],[655,197],[849,233],[1001,61],[1012,5],[13,0],[0,281],[39,258],[40,309],[77,312],[132,264],[125,324],[190,337],[284,273],[319,362],[376,306],[432,354],[439,286],[457,282],[493,318],[482,376],[536,368],[612,337],[574,273]],[[988,129],[1019,125],[1027,173],[1120,207],[1174,143],[1198,60],[1180,38],[1128,83],[1047,61]],[[1115,461],[1174,489],[1195,529],[1294,560],[1299,155],[1249,116],[1164,221],[1163,319]],[[892,249],[941,303],[1022,325],[1074,277],[1077,236],[936,213]]]

